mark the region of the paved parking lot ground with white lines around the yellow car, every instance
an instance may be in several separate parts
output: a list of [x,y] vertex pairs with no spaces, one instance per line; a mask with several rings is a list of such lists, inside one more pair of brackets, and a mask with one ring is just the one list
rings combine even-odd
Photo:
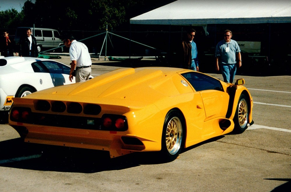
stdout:
[[[70,63],[68,56],[55,60]],[[138,66],[92,61],[93,76]],[[255,124],[189,147],[170,163],[157,163],[154,153],[107,159],[92,150],[43,150],[0,125],[1,191],[290,191],[291,76],[237,78],[245,79],[253,96]]]

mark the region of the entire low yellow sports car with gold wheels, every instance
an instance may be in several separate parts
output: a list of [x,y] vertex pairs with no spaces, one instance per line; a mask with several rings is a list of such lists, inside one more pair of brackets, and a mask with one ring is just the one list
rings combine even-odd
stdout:
[[9,124],[25,142],[108,151],[110,157],[182,147],[252,125],[242,86],[171,67],[122,68],[89,81],[13,98]]

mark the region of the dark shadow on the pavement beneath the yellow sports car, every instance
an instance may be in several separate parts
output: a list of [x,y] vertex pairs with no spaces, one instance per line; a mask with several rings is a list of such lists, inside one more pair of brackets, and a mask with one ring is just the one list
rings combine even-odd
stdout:
[[[188,147],[183,149],[182,153],[222,137],[212,138]],[[122,170],[143,164],[165,163],[157,155],[158,152],[136,152],[110,159],[108,152],[24,143],[21,138],[1,141],[0,151],[0,167],[41,171],[97,173]]]

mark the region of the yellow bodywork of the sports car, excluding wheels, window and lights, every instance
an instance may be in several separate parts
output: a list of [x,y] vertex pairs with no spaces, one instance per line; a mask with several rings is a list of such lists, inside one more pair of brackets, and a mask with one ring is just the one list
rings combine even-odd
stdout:
[[[13,98],[9,124],[26,142],[109,151],[112,158],[134,151],[160,151],[165,118],[173,109],[180,111],[184,117],[184,147],[233,131],[233,118],[242,93],[249,97],[248,123],[252,122],[252,97],[244,86],[224,83],[203,74],[203,77],[219,83],[221,90],[196,91],[183,77],[187,73],[199,72],[170,67],[123,68],[82,83]],[[227,90],[234,89],[232,98]],[[233,102],[230,102],[231,99]],[[38,110],[38,103],[44,101],[51,107]],[[63,103],[66,110],[54,111],[56,102]],[[69,112],[72,103],[79,104],[81,112]],[[85,114],[88,104],[100,106],[100,113]],[[11,113],[18,108],[20,111],[22,108],[29,109],[38,118],[27,122],[13,119]],[[97,121],[107,114],[126,117],[128,129],[101,130]],[[50,120],[46,122],[45,118]],[[60,121],[59,124],[51,122],[54,119]],[[66,122],[61,122],[63,119],[67,120],[68,126]],[[84,123],[77,122],[78,119],[84,120]],[[80,127],[74,127],[74,122],[69,122],[74,120]],[[138,142],[126,142],[126,139],[133,138]]]

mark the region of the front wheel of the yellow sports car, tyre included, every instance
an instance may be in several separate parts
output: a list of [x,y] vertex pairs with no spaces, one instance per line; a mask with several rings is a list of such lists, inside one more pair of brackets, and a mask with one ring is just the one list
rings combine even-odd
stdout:
[[245,95],[242,94],[239,97],[235,117],[233,119],[235,122],[235,128],[233,131],[235,133],[242,133],[248,128],[249,106],[247,101],[248,99]]

